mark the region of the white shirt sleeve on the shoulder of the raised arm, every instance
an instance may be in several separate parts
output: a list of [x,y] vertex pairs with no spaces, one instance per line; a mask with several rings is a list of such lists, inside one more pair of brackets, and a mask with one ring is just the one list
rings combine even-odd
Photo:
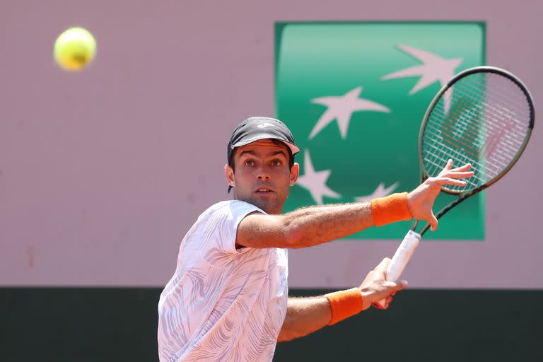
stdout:
[[231,255],[240,252],[240,250],[235,248],[238,225],[245,216],[255,211],[266,214],[257,206],[238,200],[225,203],[216,209],[211,215],[211,219],[215,221],[216,227],[214,237],[211,240],[211,246],[217,247],[218,250],[221,250],[225,254]]

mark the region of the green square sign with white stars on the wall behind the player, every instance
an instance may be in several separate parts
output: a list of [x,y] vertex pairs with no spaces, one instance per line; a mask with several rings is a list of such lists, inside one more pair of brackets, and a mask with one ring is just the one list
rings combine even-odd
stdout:
[[[276,23],[275,40],[276,116],[300,146],[284,211],[414,189],[426,108],[448,79],[485,62],[484,23]],[[440,194],[434,211],[454,198]],[[350,238],[401,239],[410,225]],[[484,194],[424,238],[483,240]]]

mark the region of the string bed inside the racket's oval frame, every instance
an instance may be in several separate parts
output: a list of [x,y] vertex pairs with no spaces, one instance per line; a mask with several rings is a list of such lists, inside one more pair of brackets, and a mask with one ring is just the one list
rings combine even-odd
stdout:
[[423,134],[423,159],[435,176],[452,158],[472,163],[475,175],[467,190],[498,177],[525,144],[531,110],[522,89],[494,73],[465,76],[448,88],[436,103]]

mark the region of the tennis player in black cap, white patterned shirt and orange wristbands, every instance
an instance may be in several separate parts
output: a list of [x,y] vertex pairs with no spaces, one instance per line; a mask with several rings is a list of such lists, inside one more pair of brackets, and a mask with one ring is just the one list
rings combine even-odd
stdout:
[[161,362],[271,361],[277,341],[356,315],[407,286],[386,281],[383,259],[360,286],[288,298],[288,248],[327,243],[371,226],[417,218],[438,225],[441,185],[472,173],[448,163],[414,191],[372,202],[311,206],[282,214],[296,183],[299,148],[277,119],[251,117],[231,134],[225,165],[233,200],[204,211],[181,242],[177,269],[158,303]]

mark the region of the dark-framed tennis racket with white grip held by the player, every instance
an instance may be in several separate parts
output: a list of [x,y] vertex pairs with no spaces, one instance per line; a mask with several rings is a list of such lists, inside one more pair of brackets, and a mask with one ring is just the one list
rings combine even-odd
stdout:
[[[436,218],[481,192],[513,168],[534,128],[534,105],[526,86],[508,71],[477,66],[454,76],[433,98],[421,124],[421,181],[435,177],[449,159],[471,163],[474,176],[465,186],[445,185],[441,191],[458,198]],[[421,236],[417,221],[405,235],[387,268],[387,280],[397,281]],[[385,300],[377,303],[383,308]]]

